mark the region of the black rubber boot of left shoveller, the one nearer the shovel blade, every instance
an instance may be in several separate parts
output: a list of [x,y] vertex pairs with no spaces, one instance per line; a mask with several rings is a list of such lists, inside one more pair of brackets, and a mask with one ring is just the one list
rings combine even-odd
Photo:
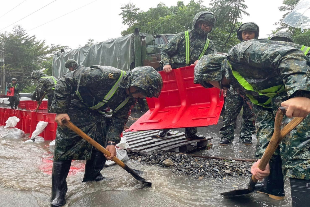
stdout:
[[106,158],[102,152],[93,150],[91,160],[86,161],[82,182],[104,180],[105,177],[101,175],[100,171],[103,169],[105,161]]

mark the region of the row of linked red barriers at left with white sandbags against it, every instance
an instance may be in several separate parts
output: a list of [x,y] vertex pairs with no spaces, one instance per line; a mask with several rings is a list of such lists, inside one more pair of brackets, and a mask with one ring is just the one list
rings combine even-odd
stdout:
[[25,134],[29,133],[29,136],[31,136],[36,129],[38,122],[48,122],[47,127],[45,127],[44,131],[39,136],[42,136],[44,140],[55,140],[57,129],[57,123],[54,121],[56,116],[55,113],[0,108],[0,126],[5,126],[7,119],[13,116],[20,119],[20,121],[17,122],[16,128],[23,130]]

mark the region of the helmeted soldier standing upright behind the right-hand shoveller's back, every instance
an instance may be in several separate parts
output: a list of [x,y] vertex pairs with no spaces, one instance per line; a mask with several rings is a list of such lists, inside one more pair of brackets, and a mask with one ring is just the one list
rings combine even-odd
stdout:
[[[237,30],[238,39],[243,42],[259,37],[259,26],[254,22],[246,22]],[[237,125],[237,116],[243,107],[239,139],[245,145],[252,144],[252,135],[255,133],[254,114],[244,99],[237,91],[230,87],[225,99],[225,112],[223,127],[219,130],[222,135],[219,145],[228,145],[234,139],[234,131]]]

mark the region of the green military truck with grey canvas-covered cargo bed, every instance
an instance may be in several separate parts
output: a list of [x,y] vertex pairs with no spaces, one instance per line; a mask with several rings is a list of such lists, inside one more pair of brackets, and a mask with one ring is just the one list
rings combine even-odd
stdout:
[[64,63],[68,59],[78,61],[78,64],[89,67],[92,65],[106,65],[120,70],[131,70],[138,66],[152,66],[157,71],[161,70],[160,48],[165,45],[174,34],[135,33],[104,42],[72,49],[53,57],[53,76],[60,78],[68,69]]

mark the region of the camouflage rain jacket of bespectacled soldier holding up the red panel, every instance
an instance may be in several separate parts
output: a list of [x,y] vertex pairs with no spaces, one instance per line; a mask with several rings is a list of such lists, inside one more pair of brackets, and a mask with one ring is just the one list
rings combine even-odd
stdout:
[[[201,11],[197,13],[193,19],[193,29],[189,30],[189,64],[194,64],[198,60],[203,48],[206,44],[208,34],[201,32],[200,29],[195,28],[196,21],[199,17],[208,13],[207,11]],[[200,30],[197,31],[197,30]],[[161,49],[161,64],[173,65],[177,64],[179,67],[186,66],[186,53],[185,53],[185,33],[180,32],[176,34],[170,41]],[[204,55],[216,53],[215,46],[210,40],[208,48],[206,49]]]

